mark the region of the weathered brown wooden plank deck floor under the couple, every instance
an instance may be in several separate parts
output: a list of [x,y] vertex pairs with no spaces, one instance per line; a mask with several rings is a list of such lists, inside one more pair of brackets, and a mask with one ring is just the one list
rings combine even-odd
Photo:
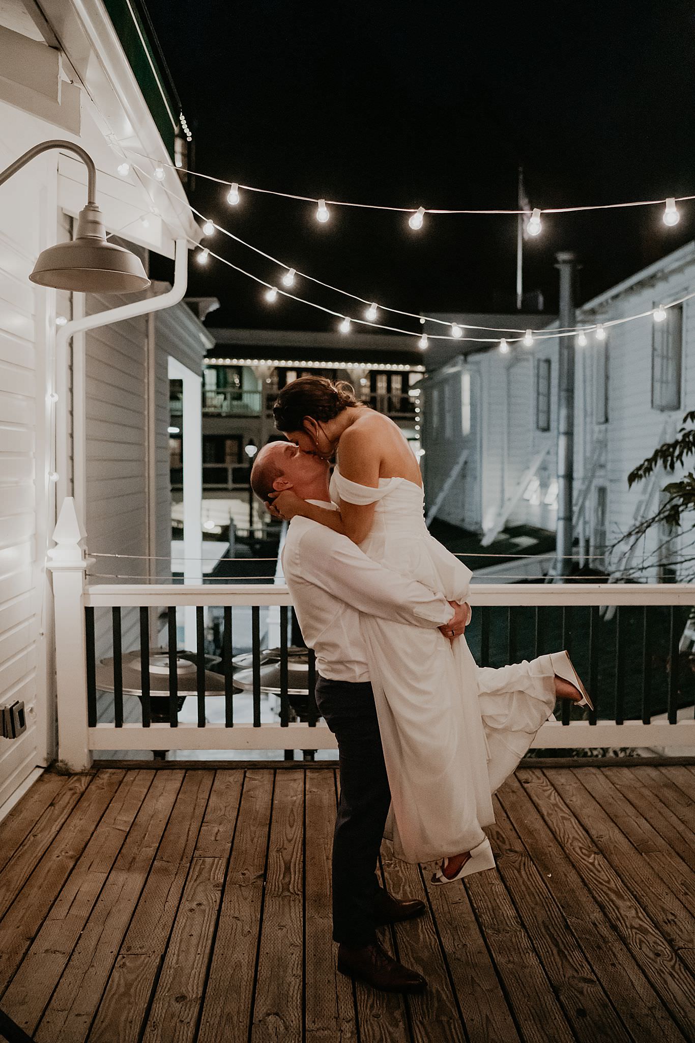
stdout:
[[0,826],[0,1008],[41,1043],[640,1043],[695,1036],[695,768],[522,768],[496,871],[384,944],[403,1000],[336,972],[330,767],[46,773]]

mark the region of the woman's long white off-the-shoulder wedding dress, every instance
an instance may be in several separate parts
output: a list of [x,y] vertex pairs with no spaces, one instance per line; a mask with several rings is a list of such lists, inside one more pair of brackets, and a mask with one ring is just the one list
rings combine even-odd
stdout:
[[[368,488],[336,467],[334,503],[376,503],[361,550],[449,601],[471,571],[430,536],[423,490],[407,479]],[[492,794],[516,769],[555,702],[549,657],[501,670],[476,664],[464,636],[363,615],[391,810],[384,836],[405,862],[470,851],[495,821]]]

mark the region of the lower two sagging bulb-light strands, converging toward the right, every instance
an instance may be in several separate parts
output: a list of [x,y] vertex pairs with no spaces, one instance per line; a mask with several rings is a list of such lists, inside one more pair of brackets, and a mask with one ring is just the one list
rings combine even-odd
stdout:
[[[127,165],[124,164],[121,165],[121,167]],[[119,173],[122,173],[121,167],[119,167]],[[134,170],[138,171],[139,174],[150,180],[152,179],[160,180],[160,178],[157,176],[156,169],[154,171],[154,174],[150,175],[146,170],[144,170],[136,164],[132,164],[132,167]],[[123,176],[125,176],[127,173],[129,173],[129,167],[128,170],[125,173],[123,173]],[[174,193],[171,192],[171,190],[169,190],[165,185],[162,185],[160,187],[169,195],[174,196]],[[175,198],[177,201],[180,202],[180,199],[178,197]],[[320,202],[325,202],[325,201],[320,200]],[[209,239],[215,234],[216,231],[219,231],[224,235],[228,236],[231,240],[239,243],[240,245],[252,250],[254,253],[270,261],[272,264],[277,265],[283,271],[283,274],[281,278],[278,280],[278,282],[282,283],[282,287],[287,287],[287,289],[273,285],[272,283],[269,283],[267,280],[262,278],[258,275],[254,275],[252,272],[247,271],[245,268],[242,268],[241,266],[233,264],[231,261],[228,261],[221,254],[214,252],[209,248],[209,246],[207,245],[203,246],[201,243],[196,242],[193,239],[189,239],[190,244],[199,251],[197,254],[199,264],[205,265],[207,264],[209,258],[214,258],[220,263],[227,265],[229,268],[232,268],[234,271],[239,272],[240,274],[246,276],[247,278],[264,287],[265,291],[263,296],[267,304],[275,305],[278,300],[278,297],[280,296],[288,297],[292,300],[296,300],[300,304],[308,306],[309,308],[314,308],[318,311],[323,312],[324,314],[331,315],[333,318],[339,319],[340,321],[338,328],[340,332],[343,334],[349,334],[351,332],[352,324],[355,323],[356,325],[365,325],[371,329],[383,330],[388,333],[398,333],[407,337],[416,337],[418,339],[418,345],[422,350],[427,349],[430,340],[449,340],[451,338],[463,339],[464,337],[468,342],[473,342],[473,343],[483,343],[483,344],[496,343],[498,345],[498,350],[502,355],[510,354],[512,346],[518,343],[522,344],[523,347],[525,348],[531,348],[537,342],[542,342],[544,340],[554,340],[561,337],[575,337],[577,346],[586,347],[588,344],[587,334],[593,334],[596,340],[603,341],[605,340],[606,337],[606,331],[612,326],[623,325],[626,322],[632,322],[638,319],[646,318],[648,316],[651,316],[655,322],[662,322],[667,318],[667,309],[673,308],[676,305],[684,304],[686,300],[689,300],[691,297],[695,296],[695,291],[694,291],[693,293],[687,294],[686,296],[680,297],[677,300],[671,300],[668,301],[668,304],[666,302],[660,304],[656,306],[656,308],[648,309],[646,311],[639,312],[635,315],[627,315],[621,318],[610,319],[605,320],[604,322],[594,322],[590,324],[582,324],[582,325],[575,325],[568,328],[563,326],[563,328],[548,329],[542,332],[541,331],[535,332],[531,330],[522,331],[504,326],[478,326],[478,325],[468,325],[466,323],[450,322],[448,320],[439,319],[431,316],[423,316],[421,313],[416,314],[415,312],[405,312],[399,309],[388,308],[386,306],[377,306],[375,301],[369,302],[368,298],[366,297],[361,297],[357,296],[356,294],[350,293],[347,290],[342,290],[338,287],[331,286],[330,284],[324,283],[323,281],[316,278],[312,275],[305,275],[304,273],[297,271],[297,269],[279,261],[277,258],[272,257],[272,254],[266,253],[258,247],[255,247],[252,244],[245,242],[244,240],[235,236],[233,233],[229,232],[227,228],[210,220],[209,218],[204,218],[204,215],[200,211],[196,210],[196,208],[193,207],[190,202],[188,202],[188,200],[185,205],[188,205],[192,214],[194,214],[198,218],[201,218],[204,221],[201,231],[206,239]],[[331,308],[326,308],[325,306],[319,305],[314,300],[309,300],[306,297],[302,297],[296,293],[290,292],[289,288],[295,285],[295,282],[298,277],[305,278],[308,282],[322,286],[324,289],[342,294],[343,296],[346,297],[350,297],[351,299],[356,300],[363,305],[369,302],[369,308],[364,313],[364,318],[346,315],[343,312],[336,311],[334,309]],[[379,308],[381,308],[383,311],[391,312],[392,314],[395,315],[401,315],[407,318],[417,319],[421,325],[424,325],[426,322],[431,322],[438,325],[446,326],[448,328],[448,332],[442,334],[425,333],[424,331],[418,332],[414,330],[403,330],[398,326],[389,325],[384,322],[378,322],[377,317]],[[465,335],[464,334],[465,330],[474,330],[474,331],[482,330],[488,333],[497,333],[497,334],[512,333],[515,334],[515,336],[501,337],[501,338],[471,336],[470,334]]]

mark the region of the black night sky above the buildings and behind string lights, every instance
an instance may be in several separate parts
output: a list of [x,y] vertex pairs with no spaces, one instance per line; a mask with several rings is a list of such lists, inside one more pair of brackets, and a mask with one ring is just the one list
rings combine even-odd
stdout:
[[[327,199],[415,207],[516,207],[695,194],[695,7],[685,0],[478,4],[292,3],[147,7],[195,138],[196,169]],[[193,204],[289,266],[412,312],[513,308],[516,219],[426,218],[315,207],[200,178]],[[524,289],[556,307],[554,253],[574,249],[578,302],[695,236],[662,208],[544,219],[525,244]],[[215,236],[213,248],[268,282],[279,272]],[[158,277],[166,276],[166,265]],[[303,283],[297,292],[353,314]],[[215,295],[210,325],[334,329],[248,280],[191,265],[191,295]],[[500,299],[499,295],[506,299]],[[342,300],[342,302],[341,302]],[[414,324],[415,328],[415,324]]]

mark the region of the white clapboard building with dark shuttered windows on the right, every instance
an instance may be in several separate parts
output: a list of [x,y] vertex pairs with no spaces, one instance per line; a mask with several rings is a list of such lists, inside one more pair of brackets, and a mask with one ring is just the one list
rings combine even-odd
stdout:
[[[689,243],[577,309],[577,325],[607,325],[604,339],[587,334],[575,345],[573,517],[580,563],[614,576],[672,578],[660,555],[669,534],[652,531],[632,554],[606,548],[654,513],[668,479],[628,488],[629,471],[675,437],[695,409],[695,243]],[[645,314],[646,313],[646,314]],[[557,513],[557,339],[552,325],[533,344],[461,354],[422,383],[424,471],[428,510],[495,538],[518,525],[555,528]],[[676,477],[678,477],[676,471]],[[644,563],[639,575],[638,564]]]

